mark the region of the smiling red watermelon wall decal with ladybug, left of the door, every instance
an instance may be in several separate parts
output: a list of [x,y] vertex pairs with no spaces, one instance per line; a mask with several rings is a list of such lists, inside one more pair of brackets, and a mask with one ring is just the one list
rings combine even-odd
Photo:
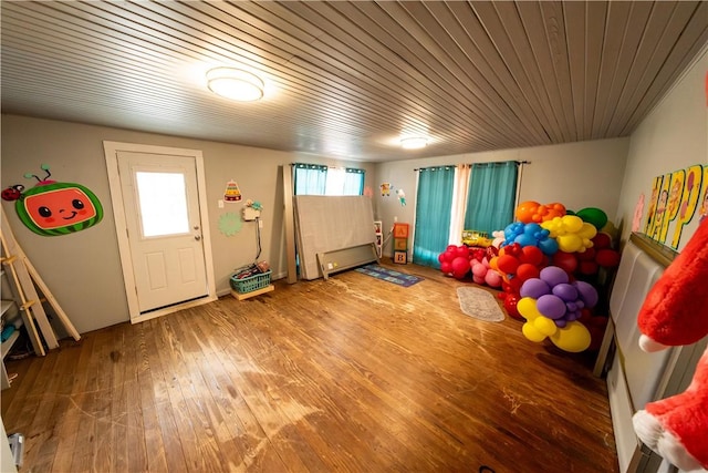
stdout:
[[34,187],[24,191],[18,184],[2,191],[3,199],[15,200],[18,216],[29,229],[43,236],[67,235],[101,222],[103,207],[93,192],[81,184],[52,181],[49,166],[41,167],[46,173],[43,179],[24,175],[38,181]]

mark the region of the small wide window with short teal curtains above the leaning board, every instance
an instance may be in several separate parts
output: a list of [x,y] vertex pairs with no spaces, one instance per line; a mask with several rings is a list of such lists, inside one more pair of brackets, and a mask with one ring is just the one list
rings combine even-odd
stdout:
[[364,169],[296,163],[295,195],[363,195]]

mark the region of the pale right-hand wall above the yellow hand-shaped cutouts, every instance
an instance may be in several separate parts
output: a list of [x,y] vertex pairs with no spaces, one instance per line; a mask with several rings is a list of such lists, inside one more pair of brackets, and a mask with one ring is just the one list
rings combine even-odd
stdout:
[[[617,227],[622,227],[623,241],[632,232],[634,210],[642,194],[646,199],[642,216],[644,227],[652,181],[656,176],[696,164],[708,164],[706,71],[708,49],[632,134],[615,222]],[[683,232],[679,250],[697,225],[695,215]]]

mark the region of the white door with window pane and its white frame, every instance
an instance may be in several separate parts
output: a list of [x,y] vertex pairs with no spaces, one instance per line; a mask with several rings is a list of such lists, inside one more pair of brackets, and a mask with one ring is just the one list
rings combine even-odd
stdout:
[[112,166],[116,172],[111,193],[124,277],[129,274],[125,280],[131,320],[214,300],[208,233],[200,213],[201,156],[145,146],[108,150],[108,144],[104,147],[110,174]]

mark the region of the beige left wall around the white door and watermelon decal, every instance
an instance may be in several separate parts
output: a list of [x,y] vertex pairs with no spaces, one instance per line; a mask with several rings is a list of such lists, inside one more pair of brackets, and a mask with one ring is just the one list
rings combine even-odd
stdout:
[[259,259],[271,264],[274,278],[284,277],[287,273],[281,166],[304,162],[360,167],[366,169],[365,184],[374,185],[374,168],[365,163],[2,115],[2,188],[14,184],[32,186],[34,181],[25,179],[24,173],[43,176],[40,165],[49,164],[53,179],[85,185],[96,194],[104,207],[103,222],[94,227],[65,236],[43,237],[21,224],[13,203],[2,202],[20,246],[80,332],[128,320],[103,141],[202,151],[219,294],[229,291],[229,278],[233,269],[252,263],[257,254],[253,223],[243,223],[241,230],[231,237],[218,229],[220,215],[238,213],[242,206],[230,204],[222,209],[217,207],[217,200],[223,198],[230,178],[238,182],[244,198],[259,200],[263,205],[262,254]]

